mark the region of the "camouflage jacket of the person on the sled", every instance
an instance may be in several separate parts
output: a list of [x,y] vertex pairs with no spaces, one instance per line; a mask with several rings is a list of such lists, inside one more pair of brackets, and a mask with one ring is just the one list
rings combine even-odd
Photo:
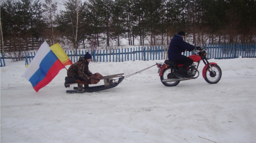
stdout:
[[79,77],[83,78],[84,80],[88,79],[88,76],[91,76],[92,73],[89,71],[88,67],[89,63],[84,57],[80,57],[79,60],[72,64],[67,71],[67,76],[72,77],[74,75],[79,75]]

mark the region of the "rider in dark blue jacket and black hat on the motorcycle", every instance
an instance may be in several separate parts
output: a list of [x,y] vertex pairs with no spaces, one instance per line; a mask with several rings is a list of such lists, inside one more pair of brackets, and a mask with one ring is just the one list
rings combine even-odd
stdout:
[[193,64],[193,60],[182,55],[182,52],[193,51],[194,49],[201,50],[201,47],[195,47],[183,41],[185,38],[185,32],[180,31],[177,35],[174,35],[170,41],[168,49],[168,60],[184,64],[182,67],[179,67],[177,72],[174,73],[175,76],[179,78],[185,78],[183,76],[184,71]]

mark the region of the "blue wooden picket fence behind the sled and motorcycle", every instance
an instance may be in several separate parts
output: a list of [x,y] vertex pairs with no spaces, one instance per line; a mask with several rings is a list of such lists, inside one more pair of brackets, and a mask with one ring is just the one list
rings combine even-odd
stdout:
[[[199,45],[200,46],[200,45]],[[237,43],[237,44],[206,44],[203,46],[207,52],[207,59],[233,59],[242,56],[243,58],[255,58],[255,43]],[[93,50],[93,51],[65,51],[70,60],[74,63],[79,57],[84,56],[86,52],[92,55],[92,62],[124,62],[124,61],[149,61],[149,60],[165,60],[168,48],[163,46],[153,47],[134,47],[127,49],[113,50]],[[25,61],[29,64],[35,52],[26,53]],[[192,52],[184,52],[183,55],[193,55]]]

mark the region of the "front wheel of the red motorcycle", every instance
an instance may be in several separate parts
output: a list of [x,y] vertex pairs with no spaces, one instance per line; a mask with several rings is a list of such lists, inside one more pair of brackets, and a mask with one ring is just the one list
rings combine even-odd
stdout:
[[206,68],[206,72],[205,72],[205,78],[204,80],[210,84],[215,84],[215,83],[218,83],[221,79],[221,75],[222,75],[222,72],[221,72],[221,69],[218,65],[211,65],[213,66],[212,69],[214,71],[213,72],[210,72],[210,67],[208,66]]

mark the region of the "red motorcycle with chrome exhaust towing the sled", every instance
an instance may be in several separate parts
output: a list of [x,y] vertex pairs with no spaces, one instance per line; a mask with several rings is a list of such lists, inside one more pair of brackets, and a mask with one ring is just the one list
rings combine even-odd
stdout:
[[[161,79],[161,82],[165,86],[176,86],[180,83],[182,80],[189,80],[189,79],[196,79],[199,77],[199,71],[197,70],[199,63],[203,61],[205,66],[203,67],[203,78],[206,82],[210,84],[218,83],[221,79],[221,69],[216,63],[209,63],[206,58],[206,51],[205,50],[195,50],[197,54],[188,56],[191,58],[194,63],[189,66],[185,72],[183,73],[183,76],[185,78],[179,78],[174,75],[175,72],[177,72],[177,69],[180,66],[183,66],[184,64],[172,62],[169,60],[165,60],[164,63],[157,63],[158,73]],[[194,77],[197,73],[197,76]]]

